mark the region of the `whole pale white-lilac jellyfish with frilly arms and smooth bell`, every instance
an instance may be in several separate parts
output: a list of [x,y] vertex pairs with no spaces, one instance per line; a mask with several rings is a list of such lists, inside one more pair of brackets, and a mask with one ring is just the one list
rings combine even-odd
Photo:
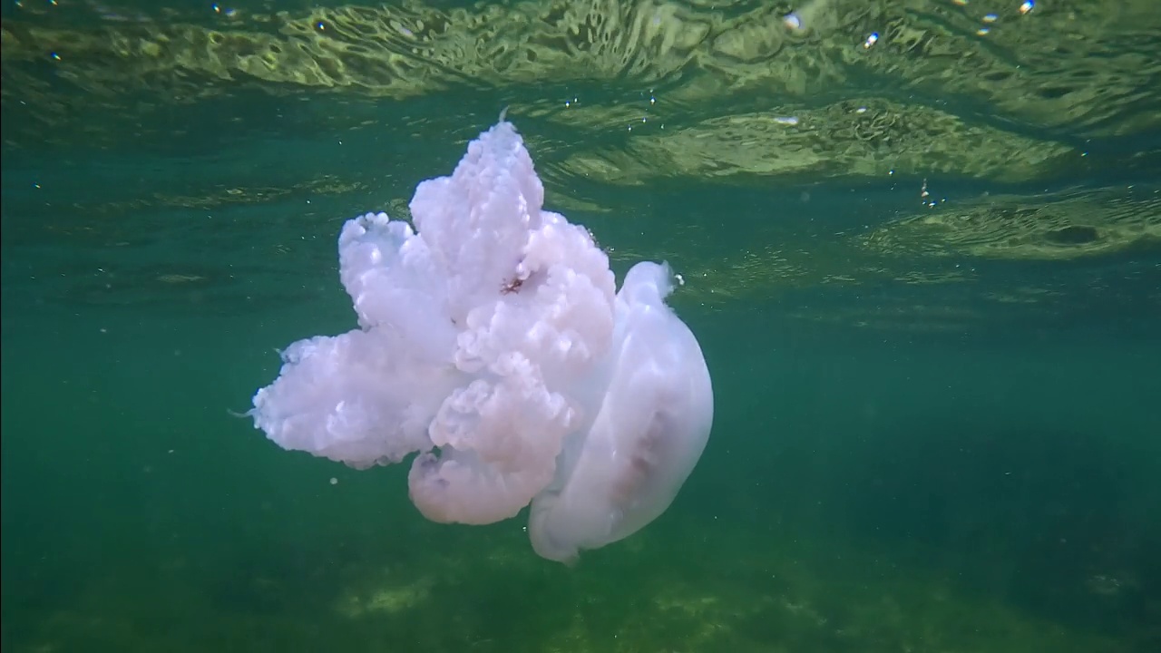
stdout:
[[428,519],[489,524],[531,504],[536,553],[563,562],[669,508],[713,422],[697,338],[664,302],[668,265],[616,290],[587,230],[545,189],[503,120],[406,221],[339,236],[359,326],[282,352],[254,424],[286,450],[356,468],[401,462]]

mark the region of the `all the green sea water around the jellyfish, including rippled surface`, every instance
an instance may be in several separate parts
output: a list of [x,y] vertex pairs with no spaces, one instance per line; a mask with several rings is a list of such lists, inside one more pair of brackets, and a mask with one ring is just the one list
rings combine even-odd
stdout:
[[[7,652],[1161,650],[1151,0],[5,0]],[[504,108],[669,260],[673,505],[567,567],[251,421]]]

